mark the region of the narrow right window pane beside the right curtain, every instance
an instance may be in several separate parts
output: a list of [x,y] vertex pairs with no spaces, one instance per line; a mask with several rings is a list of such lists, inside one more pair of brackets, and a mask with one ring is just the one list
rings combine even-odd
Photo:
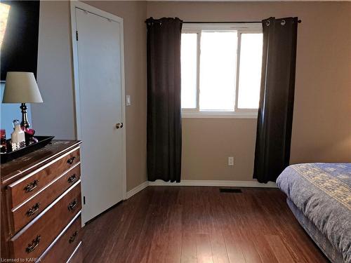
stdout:
[[241,34],[239,109],[258,109],[262,67],[263,34]]

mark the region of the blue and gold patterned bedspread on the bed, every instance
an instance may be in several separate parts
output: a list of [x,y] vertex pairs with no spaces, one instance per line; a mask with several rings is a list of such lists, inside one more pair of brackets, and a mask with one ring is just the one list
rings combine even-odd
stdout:
[[351,163],[295,164],[277,186],[351,262]]

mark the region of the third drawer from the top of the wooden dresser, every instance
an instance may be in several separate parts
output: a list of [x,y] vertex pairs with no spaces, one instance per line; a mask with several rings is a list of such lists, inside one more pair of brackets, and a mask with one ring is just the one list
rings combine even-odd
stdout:
[[79,181],[11,238],[11,255],[15,258],[39,257],[80,210]]

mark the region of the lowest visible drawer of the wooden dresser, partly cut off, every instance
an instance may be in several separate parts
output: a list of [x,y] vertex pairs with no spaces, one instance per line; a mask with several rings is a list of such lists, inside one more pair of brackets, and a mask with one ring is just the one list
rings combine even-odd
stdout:
[[69,227],[63,231],[51,247],[39,259],[40,262],[67,262],[77,245],[81,242],[81,213],[79,213]]

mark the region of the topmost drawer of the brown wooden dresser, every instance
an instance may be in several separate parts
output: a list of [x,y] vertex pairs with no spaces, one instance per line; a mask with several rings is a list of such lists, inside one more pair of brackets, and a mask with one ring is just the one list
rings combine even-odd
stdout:
[[42,166],[38,170],[29,173],[29,175],[26,175],[21,180],[9,184],[6,187],[6,195],[8,196],[10,208],[15,208],[27,198],[36,194],[46,184],[55,180],[56,177],[65,173],[66,170],[79,161],[80,154],[79,148],[77,148]]

